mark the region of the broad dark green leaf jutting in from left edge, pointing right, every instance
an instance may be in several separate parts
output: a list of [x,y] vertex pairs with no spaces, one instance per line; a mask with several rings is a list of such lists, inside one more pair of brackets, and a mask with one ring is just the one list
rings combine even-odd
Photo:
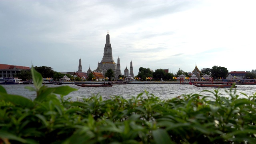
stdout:
[[18,95],[0,93],[0,100],[11,102],[16,106],[22,106],[25,108],[33,108],[34,106],[34,103],[30,99]]

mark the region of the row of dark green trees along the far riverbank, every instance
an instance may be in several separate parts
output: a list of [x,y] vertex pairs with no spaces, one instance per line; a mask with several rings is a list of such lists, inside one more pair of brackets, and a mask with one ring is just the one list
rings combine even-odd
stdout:
[[[48,66],[35,66],[34,67],[36,71],[38,71],[40,74],[42,74],[43,78],[53,78],[54,80],[59,80],[60,78],[63,78],[65,75],[68,76],[68,78],[74,78],[70,74],[62,74],[60,72],[56,72],[53,70],[53,68]],[[148,78],[152,78],[150,80],[175,80],[175,77],[178,77],[180,75],[185,75],[186,77],[191,77],[188,72],[184,72],[184,70],[181,70],[180,68],[177,70],[175,74],[173,73],[166,73],[163,69],[156,69],[155,72],[153,70],[150,70],[150,68],[139,68],[138,75],[135,76],[135,78],[140,78],[140,80],[148,80]],[[209,75],[214,79],[218,78],[226,78],[228,75],[228,69],[222,66],[212,66],[212,68],[202,68],[201,72],[199,73],[199,76],[202,77],[203,75]],[[108,77],[108,80],[114,80],[114,70],[108,69],[107,72],[104,75],[105,77]],[[32,79],[32,75],[30,71],[27,70],[21,70],[20,73],[15,74],[15,77],[18,77],[22,80],[30,80]],[[118,79],[124,79],[126,76],[119,75]],[[245,75],[245,78],[247,79],[255,79],[256,74],[252,72],[247,72]],[[76,77],[74,80],[81,80],[81,78]],[[88,74],[88,78],[86,80],[96,80],[94,75],[92,73]]]

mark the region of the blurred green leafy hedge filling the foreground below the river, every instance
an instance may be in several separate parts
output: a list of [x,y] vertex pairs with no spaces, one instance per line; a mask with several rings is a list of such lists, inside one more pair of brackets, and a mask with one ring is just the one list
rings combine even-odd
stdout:
[[[160,100],[147,91],[124,99],[99,95],[72,102],[69,86],[48,88],[32,68],[37,97],[7,94],[0,86],[0,142],[25,144],[253,144],[256,93],[187,94]],[[60,98],[58,98],[58,96]],[[210,97],[212,96],[212,97]]]

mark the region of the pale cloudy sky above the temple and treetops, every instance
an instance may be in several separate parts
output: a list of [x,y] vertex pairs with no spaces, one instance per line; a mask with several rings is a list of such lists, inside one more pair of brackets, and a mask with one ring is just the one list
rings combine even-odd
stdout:
[[96,70],[109,32],[121,72],[251,71],[255,0],[0,0],[0,64]]

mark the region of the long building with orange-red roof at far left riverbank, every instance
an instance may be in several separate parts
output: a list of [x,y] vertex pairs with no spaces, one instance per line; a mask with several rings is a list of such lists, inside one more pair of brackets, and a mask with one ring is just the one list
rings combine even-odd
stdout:
[[15,66],[10,64],[0,64],[0,77],[14,77],[21,70],[30,70],[28,66]]

